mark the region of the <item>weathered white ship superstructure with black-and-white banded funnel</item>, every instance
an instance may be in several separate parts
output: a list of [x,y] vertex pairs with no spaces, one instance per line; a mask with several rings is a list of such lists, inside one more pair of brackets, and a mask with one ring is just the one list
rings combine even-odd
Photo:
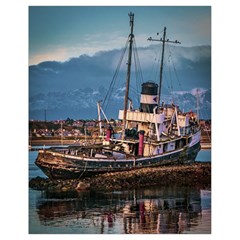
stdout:
[[[126,113],[124,152],[142,156],[172,152],[186,146],[191,134],[199,130],[196,114],[182,113],[174,104],[158,107],[156,98],[157,84],[144,83],[140,109],[129,108]],[[120,110],[119,119],[123,116],[124,110]]]

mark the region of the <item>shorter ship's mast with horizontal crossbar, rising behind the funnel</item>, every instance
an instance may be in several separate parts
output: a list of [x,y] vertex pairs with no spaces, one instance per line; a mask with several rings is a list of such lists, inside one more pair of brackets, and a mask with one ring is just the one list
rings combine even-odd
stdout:
[[[160,64],[160,80],[159,80],[159,88],[158,88],[158,106],[160,105],[160,98],[161,98],[161,91],[162,91],[162,73],[163,73],[163,59],[164,59],[164,49],[165,49],[165,42],[167,43],[179,43],[181,44],[179,41],[175,40],[175,41],[170,41],[169,39],[166,40],[166,30],[167,28],[164,27],[163,30],[163,38],[161,39],[153,39],[152,37],[149,37],[148,40],[149,41],[158,41],[158,42],[162,42],[162,58],[161,58],[161,64]],[[159,35],[159,33],[157,33],[157,35]]]

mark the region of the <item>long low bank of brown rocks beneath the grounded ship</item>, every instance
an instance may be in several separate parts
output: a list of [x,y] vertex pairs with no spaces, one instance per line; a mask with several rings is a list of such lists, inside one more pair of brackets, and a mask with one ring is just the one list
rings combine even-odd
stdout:
[[29,187],[50,191],[112,191],[133,189],[152,185],[211,185],[211,163],[191,165],[161,166],[135,169],[128,172],[106,173],[92,178],[50,180],[36,177],[31,179]]

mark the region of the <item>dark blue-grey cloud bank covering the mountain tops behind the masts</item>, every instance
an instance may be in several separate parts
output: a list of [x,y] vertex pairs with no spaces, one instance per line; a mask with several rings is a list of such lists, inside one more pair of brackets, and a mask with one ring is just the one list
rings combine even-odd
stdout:
[[[138,78],[136,81],[136,76],[131,77],[131,86],[137,91],[141,88],[142,80],[152,80],[158,83],[159,56],[161,55],[159,50],[159,45],[138,49],[143,79]],[[63,50],[59,53],[64,56]],[[209,46],[192,48],[177,46],[171,52],[166,48],[166,55],[169,53],[171,61],[166,56],[164,63],[163,88],[165,87],[166,91],[210,88],[211,48]],[[125,55],[115,88],[122,86],[126,80],[127,54]],[[69,58],[67,61],[46,61],[32,65],[29,67],[30,96],[46,90],[70,91],[92,86],[107,88],[113,79],[120,56],[121,50],[115,49],[97,52],[92,56],[80,55]],[[132,64],[132,72],[135,73],[134,63]],[[179,82],[183,87],[180,86]]]

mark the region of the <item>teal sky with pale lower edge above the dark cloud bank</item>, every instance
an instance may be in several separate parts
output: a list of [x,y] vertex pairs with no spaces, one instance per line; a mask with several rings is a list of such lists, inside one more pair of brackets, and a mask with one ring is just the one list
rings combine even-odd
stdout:
[[134,18],[137,46],[164,26],[182,46],[211,45],[211,7],[29,7],[29,65],[121,48]]

